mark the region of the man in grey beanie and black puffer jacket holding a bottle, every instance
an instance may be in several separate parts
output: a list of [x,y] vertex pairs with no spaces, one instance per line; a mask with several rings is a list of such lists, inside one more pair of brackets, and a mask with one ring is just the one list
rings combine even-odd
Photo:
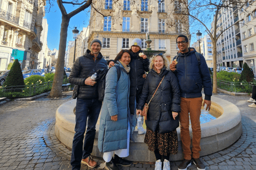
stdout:
[[[90,155],[95,138],[95,125],[98,121],[102,102],[98,100],[98,84],[91,79],[91,75],[96,70],[107,69],[107,61],[102,58],[100,49],[101,41],[92,40],[91,51],[87,49],[84,56],[77,58],[68,78],[69,83],[79,86],[76,101],[76,133],[73,139],[70,162],[73,170],[81,168],[81,160],[82,163],[91,168],[97,165]],[[87,131],[84,139],[86,124]]]

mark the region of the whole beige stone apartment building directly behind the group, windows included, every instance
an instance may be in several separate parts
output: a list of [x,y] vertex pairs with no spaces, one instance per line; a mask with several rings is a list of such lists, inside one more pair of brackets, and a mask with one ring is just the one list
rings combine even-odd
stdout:
[[146,33],[152,40],[151,48],[164,50],[169,60],[177,55],[178,35],[188,35],[190,40],[188,19],[180,15],[179,1],[101,0],[94,7],[105,17],[92,8],[88,44],[96,38],[101,40],[106,60],[114,59],[121,49],[130,49],[134,38],[140,38],[146,50]]

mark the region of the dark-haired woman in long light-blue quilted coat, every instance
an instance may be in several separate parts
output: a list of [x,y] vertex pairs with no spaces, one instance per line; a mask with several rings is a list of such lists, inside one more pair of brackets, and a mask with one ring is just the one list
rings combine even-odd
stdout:
[[106,75],[105,96],[100,116],[98,148],[100,152],[103,152],[106,168],[111,170],[118,170],[116,164],[121,166],[131,165],[131,162],[121,158],[129,156],[131,135],[129,108],[130,61],[129,51],[121,50],[115,58],[115,66],[120,67],[121,70],[119,80],[117,78],[116,67],[111,67]]

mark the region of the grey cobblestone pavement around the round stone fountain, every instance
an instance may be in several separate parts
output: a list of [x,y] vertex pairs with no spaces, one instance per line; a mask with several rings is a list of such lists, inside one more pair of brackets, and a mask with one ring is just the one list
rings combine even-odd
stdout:
[[[214,95],[235,104],[242,114],[243,133],[233,145],[202,157],[206,169],[256,169],[256,108],[248,107],[249,96]],[[0,170],[3,169],[71,169],[71,151],[54,134],[57,108],[71,100],[37,99],[10,101],[0,106]],[[103,160],[94,158],[104,168]],[[180,162],[171,162],[178,169]],[[129,170],[153,170],[154,163],[134,163]],[[82,166],[81,169],[91,169]],[[188,169],[195,170],[195,165]]]

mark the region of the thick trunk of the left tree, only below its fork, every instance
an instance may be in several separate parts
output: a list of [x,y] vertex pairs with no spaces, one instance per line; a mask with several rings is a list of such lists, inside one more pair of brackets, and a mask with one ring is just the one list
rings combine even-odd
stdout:
[[48,98],[61,97],[69,20],[70,19],[68,18],[68,16],[62,16],[61,29],[60,29],[59,54],[57,58],[57,65],[56,65],[55,75],[53,79],[52,90]]

